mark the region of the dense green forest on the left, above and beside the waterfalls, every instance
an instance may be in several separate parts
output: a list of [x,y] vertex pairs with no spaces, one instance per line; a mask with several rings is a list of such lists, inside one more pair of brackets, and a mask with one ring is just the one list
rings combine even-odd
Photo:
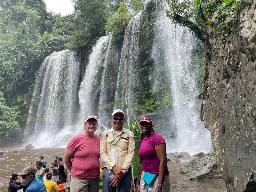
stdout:
[[[129,11],[136,14],[143,2],[129,1]],[[74,13],[61,16],[48,12],[43,0],[0,2],[1,139],[10,139],[25,127],[36,72],[45,56],[70,49],[85,61],[97,39],[110,32],[117,46],[122,45],[123,1],[74,0],[73,4]]]

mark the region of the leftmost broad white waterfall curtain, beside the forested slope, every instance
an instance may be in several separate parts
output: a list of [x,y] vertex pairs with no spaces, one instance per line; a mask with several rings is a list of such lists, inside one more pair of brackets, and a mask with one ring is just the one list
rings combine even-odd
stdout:
[[79,65],[76,53],[69,50],[53,52],[44,59],[36,76],[25,128],[26,139],[30,135],[36,147],[65,144],[65,138],[73,135]]

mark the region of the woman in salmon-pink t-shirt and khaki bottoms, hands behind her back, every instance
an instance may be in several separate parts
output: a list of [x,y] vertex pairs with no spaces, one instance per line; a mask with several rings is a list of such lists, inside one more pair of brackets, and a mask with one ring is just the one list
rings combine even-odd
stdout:
[[74,136],[65,149],[64,162],[72,176],[71,192],[99,191],[100,137],[94,134],[98,125],[97,118],[87,116],[84,132]]

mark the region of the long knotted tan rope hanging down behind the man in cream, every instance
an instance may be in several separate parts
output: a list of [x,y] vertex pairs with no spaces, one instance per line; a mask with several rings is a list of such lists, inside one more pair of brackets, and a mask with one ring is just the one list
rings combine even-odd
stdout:
[[[124,0],[124,22],[123,23],[124,23],[124,72],[125,72],[125,103],[124,103],[124,105],[126,104],[128,129],[130,131],[130,120],[129,120],[129,109],[128,109],[128,106],[130,107],[132,115],[133,115],[133,117],[134,117],[136,122],[137,122],[137,120],[136,120],[136,117],[133,114],[132,107],[128,103],[128,88],[127,88],[127,38],[126,38],[126,36],[127,36],[126,35],[127,23],[126,23],[126,3],[125,3],[125,0]],[[124,106],[123,106],[123,108],[124,108]],[[122,110],[123,110],[123,108],[122,108]],[[139,124],[139,122],[137,122],[137,123]],[[132,183],[133,183],[133,189],[136,190],[135,182],[134,182],[133,179],[134,179],[134,174],[133,174],[133,165],[132,165],[132,181],[133,181]]]

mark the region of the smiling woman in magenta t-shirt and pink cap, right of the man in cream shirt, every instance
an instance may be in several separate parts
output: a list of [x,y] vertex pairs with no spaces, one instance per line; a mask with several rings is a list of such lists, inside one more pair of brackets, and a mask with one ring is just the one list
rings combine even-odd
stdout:
[[149,185],[155,192],[170,192],[170,178],[167,169],[166,144],[164,138],[154,132],[149,117],[140,118],[141,139],[139,141],[140,167],[136,183],[136,192],[147,191],[142,188],[145,172],[155,174],[156,179]]

